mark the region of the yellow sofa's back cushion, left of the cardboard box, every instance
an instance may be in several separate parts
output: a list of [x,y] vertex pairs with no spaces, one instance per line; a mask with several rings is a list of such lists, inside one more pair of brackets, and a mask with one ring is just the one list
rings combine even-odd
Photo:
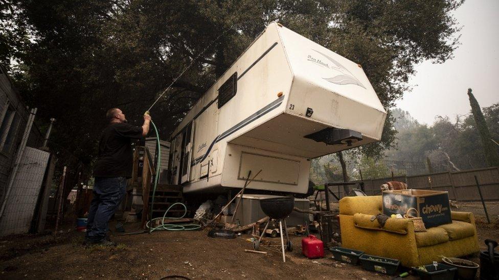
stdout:
[[355,213],[368,215],[383,213],[381,195],[346,196],[339,200],[339,214],[353,215]]

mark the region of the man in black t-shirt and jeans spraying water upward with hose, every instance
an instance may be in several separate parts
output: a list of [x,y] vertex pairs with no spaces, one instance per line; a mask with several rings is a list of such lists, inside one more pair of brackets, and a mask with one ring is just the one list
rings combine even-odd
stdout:
[[151,116],[144,114],[144,124],[127,123],[118,108],[106,113],[109,121],[99,140],[99,156],[94,167],[94,199],[88,210],[85,242],[87,244],[114,245],[106,240],[108,222],[116,212],[126,192],[126,179],[132,173],[132,139],[141,139],[149,132]]

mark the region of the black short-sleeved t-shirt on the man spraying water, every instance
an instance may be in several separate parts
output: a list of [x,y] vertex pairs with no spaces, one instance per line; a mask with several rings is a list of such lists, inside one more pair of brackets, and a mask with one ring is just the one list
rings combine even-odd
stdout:
[[128,123],[111,123],[102,131],[99,157],[94,166],[94,177],[131,177],[131,139],[142,138],[142,127]]

